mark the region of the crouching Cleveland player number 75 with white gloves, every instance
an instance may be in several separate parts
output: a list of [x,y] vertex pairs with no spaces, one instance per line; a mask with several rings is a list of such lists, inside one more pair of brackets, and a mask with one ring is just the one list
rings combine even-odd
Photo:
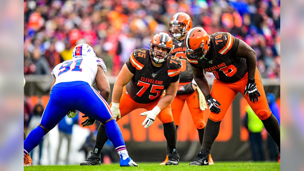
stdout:
[[[166,165],[179,163],[176,127],[170,104],[177,92],[182,64],[179,58],[171,55],[172,49],[171,37],[167,33],[158,33],[151,39],[150,49],[134,50],[116,79],[110,104],[117,120],[139,108],[148,110],[140,114],[147,116],[142,123],[145,128],[150,127],[156,117],[161,120],[169,145]],[[81,165],[92,165],[100,161],[100,158],[94,156],[100,156],[101,148],[108,140],[104,128],[102,124],[98,128],[92,155]]]

